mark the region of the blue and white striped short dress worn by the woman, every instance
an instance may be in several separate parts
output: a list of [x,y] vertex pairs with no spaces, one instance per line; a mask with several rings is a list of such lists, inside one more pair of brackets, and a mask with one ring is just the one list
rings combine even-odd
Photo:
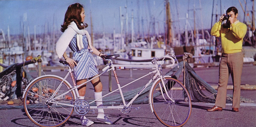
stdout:
[[69,43],[69,48],[73,51],[72,59],[78,61],[77,66],[74,67],[75,80],[87,79],[93,77],[98,73],[97,67],[94,63],[91,51],[87,48],[88,41],[86,35],[83,35],[84,48],[79,50],[77,46],[77,35],[73,37]]

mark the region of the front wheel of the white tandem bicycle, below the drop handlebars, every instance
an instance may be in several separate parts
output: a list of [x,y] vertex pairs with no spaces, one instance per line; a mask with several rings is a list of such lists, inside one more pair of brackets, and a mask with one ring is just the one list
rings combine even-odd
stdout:
[[[164,77],[167,92],[163,89],[161,79],[153,87],[151,102],[156,118],[165,126],[180,127],[189,119],[191,114],[191,100],[187,89],[178,80]],[[161,94],[161,84],[164,97]],[[167,95],[174,101],[171,101]]]

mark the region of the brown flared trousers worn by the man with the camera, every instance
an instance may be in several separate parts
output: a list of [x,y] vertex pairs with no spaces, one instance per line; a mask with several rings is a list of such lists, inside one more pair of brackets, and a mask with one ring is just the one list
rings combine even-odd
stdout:
[[215,106],[226,107],[227,85],[230,74],[233,82],[232,108],[239,108],[242,68],[242,52],[221,55],[219,64],[219,86]]

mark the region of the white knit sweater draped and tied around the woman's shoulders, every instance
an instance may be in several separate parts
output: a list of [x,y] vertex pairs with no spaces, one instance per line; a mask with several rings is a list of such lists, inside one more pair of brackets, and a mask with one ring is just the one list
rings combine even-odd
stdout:
[[91,36],[87,30],[79,30],[75,22],[71,22],[68,28],[60,36],[59,40],[56,42],[55,50],[59,58],[62,57],[64,52],[67,50],[68,45],[72,38],[77,34],[77,46],[81,50],[83,47],[83,35],[86,35],[88,45],[91,49]]

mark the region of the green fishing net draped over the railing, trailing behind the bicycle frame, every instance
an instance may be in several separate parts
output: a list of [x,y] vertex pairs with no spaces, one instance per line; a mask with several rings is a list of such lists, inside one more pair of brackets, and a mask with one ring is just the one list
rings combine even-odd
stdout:
[[[209,103],[215,103],[216,100],[216,95],[217,95],[217,90],[212,88],[206,81],[204,81],[202,78],[200,78],[195,70],[187,63],[182,61],[179,63],[179,68],[176,66],[172,68],[170,71],[168,71],[165,75],[172,76],[175,79],[178,79],[181,74],[184,74],[183,68],[185,66],[185,87],[188,90],[191,100],[193,102],[209,102]],[[138,98],[133,101],[133,104],[141,104],[141,103],[148,103],[148,94],[150,91],[150,86],[153,83],[151,83],[143,93],[141,93]],[[143,86],[144,87],[144,86]],[[143,88],[139,87],[136,89],[133,89],[129,92],[123,93],[124,99],[126,101],[130,101],[138,92]],[[227,95],[226,96],[226,103],[232,103],[232,95]],[[93,100],[90,100],[91,102]],[[114,95],[114,96],[109,96],[109,97],[104,97],[103,98],[103,105],[111,105],[111,104],[121,104],[122,98],[120,94]],[[243,98],[241,97],[240,99],[241,102],[253,102],[251,99]]]

